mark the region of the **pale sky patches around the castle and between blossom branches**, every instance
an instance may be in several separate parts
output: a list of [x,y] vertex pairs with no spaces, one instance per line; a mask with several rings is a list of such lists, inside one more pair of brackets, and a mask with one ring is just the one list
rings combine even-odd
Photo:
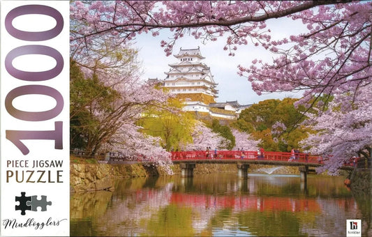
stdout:
[[[289,38],[290,35],[304,32],[306,27],[299,21],[290,19],[269,20],[267,28],[271,30],[271,37],[275,39]],[[167,40],[170,33],[162,30],[160,36],[153,37],[151,33],[142,33],[136,37],[134,47],[139,49],[138,60],[142,62],[142,78],[165,79],[165,73],[170,67],[168,64],[176,63],[177,59],[173,54],[183,49],[195,49],[200,47],[202,56],[205,57],[204,63],[211,69],[212,75],[217,85],[217,102],[235,101],[240,105],[251,105],[267,99],[283,99],[286,97],[300,98],[302,92],[292,93],[269,93],[257,95],[251,89],[251,82],[246,77],[237,75],[238,68],[248,67],[253,59],[261,59],[262,62],[271,62],[274,54],[267,52],[263,47],[251,45],[237,45],[235,56],[228,56],[229,52],[224,51],[225,38],[218,38],[217,41],[208,41],[203,44],[201,40],[196,40],[192,36],[184,36],[177,40],[173,47],[172,55],[165,56],[164,49],[160,46],[161,40]]]

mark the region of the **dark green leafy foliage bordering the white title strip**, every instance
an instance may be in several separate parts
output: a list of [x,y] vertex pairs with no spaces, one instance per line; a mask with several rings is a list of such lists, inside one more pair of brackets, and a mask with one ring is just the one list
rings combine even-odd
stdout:
[[110,113],[119,93],[105,86],[96,75],[84,78],[70,61],[70,148],[94,152],[100,142],[101,123],[96,112]]

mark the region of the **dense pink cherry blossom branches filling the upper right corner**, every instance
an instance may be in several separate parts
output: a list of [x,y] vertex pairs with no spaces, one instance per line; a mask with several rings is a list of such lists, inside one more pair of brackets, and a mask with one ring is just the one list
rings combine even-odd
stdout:
[[308,32],[271,40],[264,46],[277,54],[274,61],[254,60],[239,73],[257,93],[304,90],[300,102],[313,102],[314,95],[356,95],[371,83],[371,9],[371,2],[353,2],[292,14]]

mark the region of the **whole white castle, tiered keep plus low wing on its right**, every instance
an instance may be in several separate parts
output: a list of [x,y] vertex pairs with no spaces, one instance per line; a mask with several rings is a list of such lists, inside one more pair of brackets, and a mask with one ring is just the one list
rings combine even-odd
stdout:
[[203,63],[204,56],[197,49],[179,49],[173,55],[178,61],[171,63],[161,82],[170,93],[184,100],[184,111],[217,117],[236,119],[242,109],[250,105],[239,105],[237,101],[216,102],[217,83],[210,68]]

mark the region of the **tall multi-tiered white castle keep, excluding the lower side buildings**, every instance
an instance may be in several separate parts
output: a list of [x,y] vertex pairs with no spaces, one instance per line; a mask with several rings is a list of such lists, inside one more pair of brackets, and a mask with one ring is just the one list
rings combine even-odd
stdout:
[[216,102],[218,91],[210,68],[202,62],[205,58],[200,48],[180,48],[173,56],[178,61],[168,65],[164,87],[184,100],[184,110],[207,112],[208,105]]

